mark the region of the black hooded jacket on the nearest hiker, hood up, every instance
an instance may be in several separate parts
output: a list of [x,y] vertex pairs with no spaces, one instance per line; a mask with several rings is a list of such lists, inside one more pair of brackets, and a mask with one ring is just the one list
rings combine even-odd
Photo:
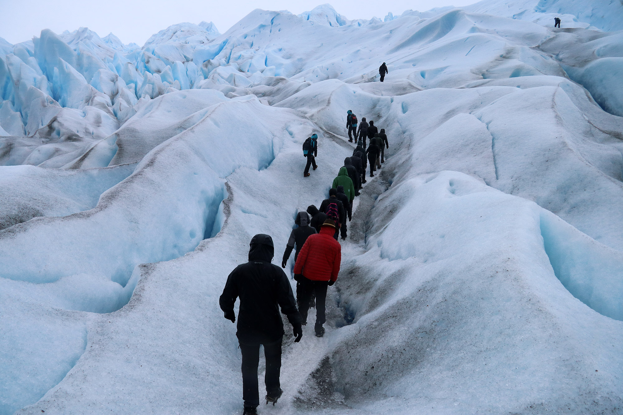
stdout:
[[224,312],[233,313],[235,300],[240,298],[236,333],[240,343],[269,343],[283,336],[279,307],[293,326],[300,325],[303,319],[288,277],[270,263],[274,253],[272,238],[259,234],[251,242],[249,262],[238,265],[229,274],[219,304]]

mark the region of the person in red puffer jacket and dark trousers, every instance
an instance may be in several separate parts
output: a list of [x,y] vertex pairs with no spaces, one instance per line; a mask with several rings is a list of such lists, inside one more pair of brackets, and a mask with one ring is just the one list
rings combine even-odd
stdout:
[[300,288],[298,311],[303,317],[303,324],[307,323],[312,293],[316,295],[314,331],[318,337],[325,334],[322,325],[326,322],[326,287],[335,283],[340,272],[342,250],[340,244],[333,239],[333,234],[335,221],[326,219],[320,227],[320,233],[307,238],[294,264],[294,279]]

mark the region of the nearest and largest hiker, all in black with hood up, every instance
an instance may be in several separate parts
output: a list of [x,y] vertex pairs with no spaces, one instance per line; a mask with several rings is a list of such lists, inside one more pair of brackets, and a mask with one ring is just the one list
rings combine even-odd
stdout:
[[249,262],[235,267],[227,282],[219,304],[225,318],[235,323],[234,303],[240,298],[236,336],[242,352],[242,399],[244,414],[257,414],[259,391],[257,366],[260,345],[266,358],[266,403],[277,403],[283,391],[279,383],[281,371],[281,343],[286,315],[298,342],[303,336],[303,318],[297,310],[288,277],[281,268],[270,262],[275,247],[269,235],[257,234],[250,242]]

